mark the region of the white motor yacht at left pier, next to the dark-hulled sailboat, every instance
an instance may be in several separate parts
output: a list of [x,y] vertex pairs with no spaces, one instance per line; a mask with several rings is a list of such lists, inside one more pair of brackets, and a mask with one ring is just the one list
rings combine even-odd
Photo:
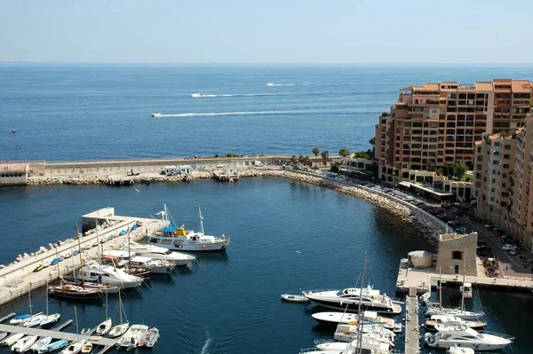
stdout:
[[116,287],[139,287],[143,282],[140,277],[127,274],[125,271],[110,265],[100,265],[94,261],[87,262],[84,268],[78,271],[78,279],[82,279],[82,272],[84,281],[109,284]]

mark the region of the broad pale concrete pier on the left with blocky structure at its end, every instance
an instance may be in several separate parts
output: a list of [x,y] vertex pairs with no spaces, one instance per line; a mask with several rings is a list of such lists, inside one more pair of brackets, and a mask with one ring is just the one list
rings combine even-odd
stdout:
[[[96,224],[99,232],[95,232]],[[121,248],[125,240],[128,240],[126,231],[131,230],[133,225],[141,224],[130,232],[131,240],[140,240],[147,232],[159,231],[164,222],[154,218],[117,216],[115,208],[101,208],[82,217],[82,230],[85,236],[81,237],[81,248],[84,249],[84,259],[96,259],[101,249]],[[92,230],[92,232],[91,232]],[[36,246],[37,248],[38,246]],[[99,249],[100,248],[100,249]],[[35,253],[24,254],[17,257],[12,264],[0,269],[0,305],[9,303],[30,290],[43,287],[49,282],[58,279],[58,266],[49,265],[41,271],[34,271],[39,265],[51,264],[54,258],[65,256],[65,260],[59,263],[63,274],[72,273],[80,267],[78,257],[73,256],[73,251],[78,250],[76,237],[60,241],[57,244],[41,246]],[[75,257],[72,261],[68,258]]]

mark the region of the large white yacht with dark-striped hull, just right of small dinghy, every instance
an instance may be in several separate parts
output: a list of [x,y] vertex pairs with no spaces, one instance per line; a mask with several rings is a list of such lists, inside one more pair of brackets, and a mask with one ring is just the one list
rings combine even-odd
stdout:
[[376,311],[389,315],[398,315],[402,312],[402,306],[394,303],[386,294],[379,294],[379,290],[374,290],[370,285],[362,289],[348,287],[342,290],[313,291],[308,290],[302,293],[312,302],[341,311],[358,311],[359,300],[364,311]]

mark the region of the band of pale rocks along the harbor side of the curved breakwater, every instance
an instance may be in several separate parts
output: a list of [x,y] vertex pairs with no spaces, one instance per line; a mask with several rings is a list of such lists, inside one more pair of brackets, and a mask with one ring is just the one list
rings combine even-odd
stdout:
[[[436,224],[433,216],[426,215],[422,210],[413,212],[414,207],[408,207],[402,201],[394,200],[386,194],[371,190],[359,185],[348,185],[346,182],[334,180],[329,177],[317,176],[311,173],[294,172],[286,169],[242,169],[239,171],[240,177],[283,177],[296,181],[305,182],[311,185],[320,185],[333,189],[338,193],[346,193],[360,198],[364,201],[377,205],[379,208],[385,208],[393,216],[413,225],[413,227],[426,235],[426,239],[431,243],[438,240],[439,234],[444,232],[441,224]],[[211,178],[210,171],[195,171],[194,178]],[[130,184],[131,177],[123,177],[125,185]],[[28,177],[28,185],[108,185],[110,178],[99,176],[68,176],[68,177]],[[173,176],[143,176],[135,177],[135,183],[181,183],[183,177]]]

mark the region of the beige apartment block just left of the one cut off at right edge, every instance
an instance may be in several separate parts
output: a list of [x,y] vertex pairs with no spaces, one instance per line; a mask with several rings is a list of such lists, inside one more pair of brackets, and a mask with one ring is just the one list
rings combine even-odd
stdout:
[[478,212],[495,224],[510,224],[516,134],[492,134],[477,141],[475,149],[473,197]]

